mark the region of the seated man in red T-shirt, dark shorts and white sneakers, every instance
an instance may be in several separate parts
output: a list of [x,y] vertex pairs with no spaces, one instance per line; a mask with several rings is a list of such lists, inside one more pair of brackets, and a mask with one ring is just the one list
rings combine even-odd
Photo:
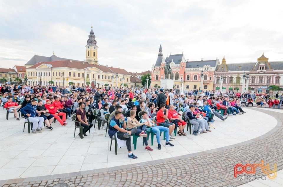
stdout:
[[[165,121],[165,119],[169,120],[168,119],[168,109],[166,108],[166,105],[162,103],[159,106],[159,108],[160,109],[156,115],[157,126],[159,126],[159,123],[163,123],[164,127],[169,128],[169,140],[172,141],[172,139],[175,139],[175,137],[171,135],[175,129],[175,124]],[[166,112],[166,114],[164,114],[164,111]]]

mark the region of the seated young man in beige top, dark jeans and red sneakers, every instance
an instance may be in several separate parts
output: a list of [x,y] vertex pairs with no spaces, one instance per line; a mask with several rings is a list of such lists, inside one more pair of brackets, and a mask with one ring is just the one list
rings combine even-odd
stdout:
[[[141,115],[143,113],[145,113],[145,111],[141,111]],[[146,132],[146,130],[147,130],[148,122],[146,121],[144,123],[140,123],[139,121],[137,121],[136,118],[135,118],[136,111],[134,111],[134,110],[131,110],[130,114],[131,114],[131,116],[127,120],[128,129],[131,130],[132,128],[137,128],[135,135],[143,137],[143,141],[144,141],[144,144],[145,144],[145,150],[153,151],[153,149],[150,148],[148,143],[147,143],[147,132]]]

